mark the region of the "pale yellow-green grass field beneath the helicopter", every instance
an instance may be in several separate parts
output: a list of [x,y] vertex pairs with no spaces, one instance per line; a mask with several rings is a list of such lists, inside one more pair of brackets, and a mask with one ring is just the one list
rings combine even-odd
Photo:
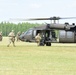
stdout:
[[0,42],[0,75],[76,75],[76,44],[7,44],[5,37]]

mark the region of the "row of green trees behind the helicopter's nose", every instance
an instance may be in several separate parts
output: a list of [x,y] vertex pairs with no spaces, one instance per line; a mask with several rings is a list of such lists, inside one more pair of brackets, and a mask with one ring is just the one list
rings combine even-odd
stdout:
[[3,36],[7,36],[11,30],[14,30],[15,34],[17,34],[18,31],[20,32],[25,32],[29,28],[39,26],[40,24],[38,23],[6,23],[6,22],[1,22],[0,23],[0,32],[2,32]]

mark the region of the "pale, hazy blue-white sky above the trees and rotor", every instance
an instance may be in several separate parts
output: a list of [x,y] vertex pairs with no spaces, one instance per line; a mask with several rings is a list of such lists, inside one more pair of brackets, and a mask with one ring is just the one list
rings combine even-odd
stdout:
[[[10,18],[53,16],[76,17],[76,0],[0,0],[0,22]],[[60,20],[65,21],[76,23],[75,19]]]

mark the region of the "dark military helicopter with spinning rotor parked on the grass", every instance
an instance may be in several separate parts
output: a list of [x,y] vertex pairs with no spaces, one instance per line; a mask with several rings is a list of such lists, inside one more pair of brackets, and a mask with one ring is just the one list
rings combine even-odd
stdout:
[[[41,41],[40,45],[44,46],[51,46],[51,43],[76,43],[76,26],[75,23],[69,24],[57,24],[56,20],[60,19],[73,19],[76,17],[67,17],[67,18],[60,18],[60,17],[51,17],[51,18],[32,18],[32,19],[22,19],[23,21],[26,20],[53,20],[54,23],[42,25],[39,27],[30,28],[24,34],[20,35],[20,40],[22,41],[29,41],[35,42],[35,36],[40,33],[41,34]],[[55,30],[59,31],[59,36],[56,36]],[[59,41],[57,41],[59,39]]]

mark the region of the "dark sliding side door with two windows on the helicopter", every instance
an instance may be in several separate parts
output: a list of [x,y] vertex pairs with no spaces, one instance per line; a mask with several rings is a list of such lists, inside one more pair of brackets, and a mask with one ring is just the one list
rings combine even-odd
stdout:
[[74,43],[74,32],[72,31],[59,31],[59,42],[60,43]]

